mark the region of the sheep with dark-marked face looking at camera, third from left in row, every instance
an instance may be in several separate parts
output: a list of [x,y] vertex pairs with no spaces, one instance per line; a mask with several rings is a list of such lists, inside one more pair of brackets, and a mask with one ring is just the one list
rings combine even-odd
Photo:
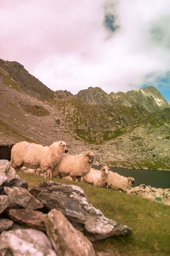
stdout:
[[90,172],[83,179],[85,182],[103,188],[108,180],[108,171],[111,171],[108,166],[102,166],[100,170],[91,168]]

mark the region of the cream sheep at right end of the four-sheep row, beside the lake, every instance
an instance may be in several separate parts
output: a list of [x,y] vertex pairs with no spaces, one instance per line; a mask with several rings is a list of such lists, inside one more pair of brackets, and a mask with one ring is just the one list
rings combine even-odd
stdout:
[[112,171],[109,171],[108,175],[109,175],[109,179],[106,184],[106,188],[108,189],[110,188],[114,190],[126,191],[135,182],[135,179],[132,177],[127,178],[119,175],[118,173],[114,173]]

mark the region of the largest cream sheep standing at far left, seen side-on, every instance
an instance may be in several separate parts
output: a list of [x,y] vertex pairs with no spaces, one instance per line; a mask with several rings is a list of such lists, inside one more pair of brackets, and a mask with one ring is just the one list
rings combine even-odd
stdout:
[[54,142],[51,146],[21,141],[11,150],[11,166],[16,170],[20,170],[22,166],[36,168],[44,177],[49,169],[51,176],[51,169],[59,162],[64,152],[68,152],[64,141]]

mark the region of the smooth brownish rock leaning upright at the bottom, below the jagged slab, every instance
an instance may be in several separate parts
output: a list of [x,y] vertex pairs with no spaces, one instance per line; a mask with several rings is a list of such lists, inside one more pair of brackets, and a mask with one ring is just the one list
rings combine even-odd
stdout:
[[58,210],[45,218],[46,233],[58,256],[95,256],[92,243]]

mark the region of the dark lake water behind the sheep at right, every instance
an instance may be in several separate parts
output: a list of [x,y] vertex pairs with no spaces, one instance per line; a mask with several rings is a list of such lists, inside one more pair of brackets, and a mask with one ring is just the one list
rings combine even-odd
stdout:
[[[100,169],[101,166],[94,165],[93,168]],[[140,184],[150,185],[155,188],[169,189],[170,188],[170,171],[160,170],[136,170],[136,169],[123,169],[123,168],[110,168],[113,172],[119,173],[125,177],[133,177],[135,184],[133,186],[139,186]]]

